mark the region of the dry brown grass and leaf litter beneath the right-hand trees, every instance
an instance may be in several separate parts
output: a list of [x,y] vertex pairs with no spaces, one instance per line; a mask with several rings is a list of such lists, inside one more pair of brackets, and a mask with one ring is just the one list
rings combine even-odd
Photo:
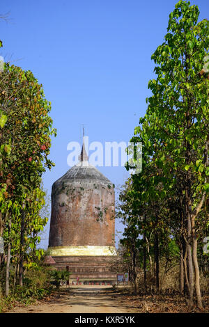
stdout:
[[160,262],[160,292],[156,292],[155,278],[153,272],[147,272],[147,287],[144,287],[144,272],[141,269],[137,274],[137,294],[127,296],[127,301],[132,303],[136,312],[150,313],[185,313],[185,312],[209,312],[209,282],[208,276],[201,273],[201,294],[203,309],[199,310],[196,306],[196,297],[194,296],[194,306],[189,308],[187,296],[179,292],[179,266],[173,266],[165,269],[164,262]]

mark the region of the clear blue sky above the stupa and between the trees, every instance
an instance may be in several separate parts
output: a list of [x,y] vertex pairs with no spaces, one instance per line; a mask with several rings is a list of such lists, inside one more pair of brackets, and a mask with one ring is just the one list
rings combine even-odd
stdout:
[[[164,41],[173,0],[3,0],[0,14],[0,55],[31,70],[52,102],[58,134],[50,159],[56,166],[45,173],[51,193],[55,180],[70,167],[67,145],[82,141],[82,124],[89,142],[130,141],[146,112],[148,81],[154,77],[150,56]],[[208,0],[199,6],[199,20],[208,18]],[[123,184],[123,167],[99,167],[114,184]],[[121,225],[116,223],[116,230]],[[47,247],[49,226],[42,246]]]

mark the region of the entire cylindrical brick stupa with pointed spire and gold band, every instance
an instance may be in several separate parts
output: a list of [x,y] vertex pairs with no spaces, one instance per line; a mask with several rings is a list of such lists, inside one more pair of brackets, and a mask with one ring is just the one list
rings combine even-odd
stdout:
[[70,279],[116,280],[114,185],[88,162],[85,146],[77,165],[52,185],[49,255]]

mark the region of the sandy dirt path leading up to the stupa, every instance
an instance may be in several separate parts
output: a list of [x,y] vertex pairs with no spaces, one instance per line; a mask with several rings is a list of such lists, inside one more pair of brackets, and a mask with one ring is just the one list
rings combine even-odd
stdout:
[[131,313],[134,308],[123,296],[108,286],[73,286],[62,289],[47,301],[39,301],[28,307],[16,306],[9,313]]

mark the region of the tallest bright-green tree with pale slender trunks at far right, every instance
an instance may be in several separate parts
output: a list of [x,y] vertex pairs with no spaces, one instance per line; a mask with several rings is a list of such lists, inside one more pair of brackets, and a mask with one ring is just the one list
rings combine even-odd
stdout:
[[[199,9],[179,1],[169,15],[165,41],[152,55],[157,78],[149,81],[153,95],[141,126],[135,129],[144,149],[161,171],[153,184],[163,185],[164,196],[181,176],[182,210],[186,217],[187,287],[193,302],[193,275],[197,302],[201,308],[196,221],[208,197],[209,115],[208,79],[200,76],[208,52],[208,20],[197,22]],[[163,194],[162,194],[163,196]],[[178,217],[180,220],[180,217]],[[193,274],[194,269],[194,274]]]

